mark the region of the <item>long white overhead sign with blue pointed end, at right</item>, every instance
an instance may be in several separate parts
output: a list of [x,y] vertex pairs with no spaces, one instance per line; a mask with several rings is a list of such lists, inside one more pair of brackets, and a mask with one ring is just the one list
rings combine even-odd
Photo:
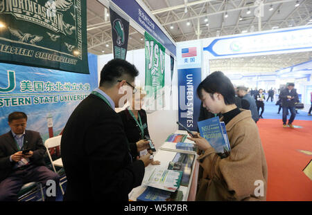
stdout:
[[214,39],[203,50],[216,57],[312,50],[312,27]]

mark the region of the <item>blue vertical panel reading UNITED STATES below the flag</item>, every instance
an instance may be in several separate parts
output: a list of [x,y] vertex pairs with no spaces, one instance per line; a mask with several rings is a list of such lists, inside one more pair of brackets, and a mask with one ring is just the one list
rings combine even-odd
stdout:
[[[198,131],[200,99],[196,90],[201,82],[201,68],[184,68],[177,70],[179,86],[179,122],[191,131]],[[180,130],[184,130],[179,126]]]

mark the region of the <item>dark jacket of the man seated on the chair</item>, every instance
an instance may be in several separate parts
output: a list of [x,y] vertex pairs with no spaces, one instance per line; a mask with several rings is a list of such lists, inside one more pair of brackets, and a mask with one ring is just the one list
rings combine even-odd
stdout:
[[[30,162],[37,166],[44,166],[44,154],[46,147],[42,143],[40,133],[37,131],[26,130],[24,135],[23,149],[31,149],[33,156],[29,158]],[[0,182],[8,177],[13,171],[17,162],[10,162],[10,156],[19,151],[13,138],[12,132],[9,131],[0,136]]]

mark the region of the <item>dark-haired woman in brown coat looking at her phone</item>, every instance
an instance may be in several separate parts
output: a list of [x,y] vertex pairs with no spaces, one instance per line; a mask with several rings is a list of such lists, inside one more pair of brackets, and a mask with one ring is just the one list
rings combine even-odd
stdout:
[[211,73],[197,94],[207,111],[222,113],[231,149],[220,156],[199,133],[188,138],[202,151],[196,200],[266,200],[268,168],[259,131],[250,111],[234,104],[231,81],[222,72]]

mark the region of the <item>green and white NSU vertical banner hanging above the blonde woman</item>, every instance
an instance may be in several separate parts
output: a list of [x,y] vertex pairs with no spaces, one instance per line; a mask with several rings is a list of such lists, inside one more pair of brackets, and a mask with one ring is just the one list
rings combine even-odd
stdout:
[[[145,87],[147,99],[146,109],[155,111],[164,107],[164,69],[165,51],[156,39],[145,32]],[[154,101],[153,101],[154,100]],[[155,102],[156,101],[156,102]]]

